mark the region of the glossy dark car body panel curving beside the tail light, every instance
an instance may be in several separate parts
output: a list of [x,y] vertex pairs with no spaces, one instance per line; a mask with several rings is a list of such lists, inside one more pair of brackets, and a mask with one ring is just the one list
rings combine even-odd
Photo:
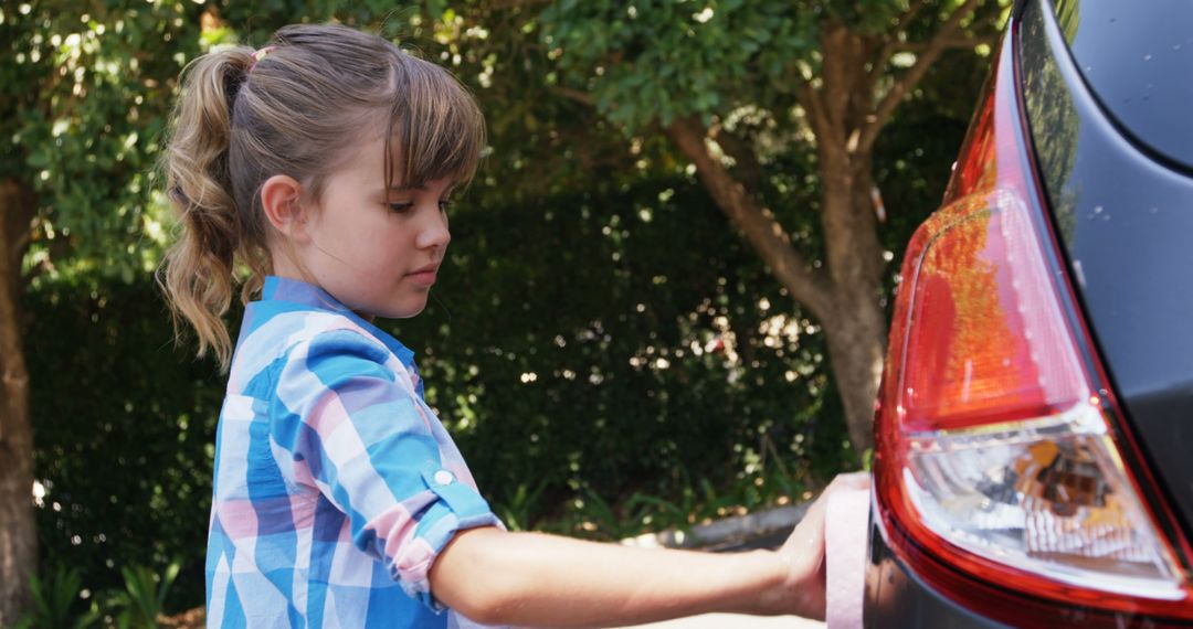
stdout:
[[[1063,49],[1057,54],[1062,31],[1043,19],[1039,5],[1026,8],[1021,31],[1027,122],[1084,320],[1143,449],[1141,463],[1158,477],[1164,503],[1189,536],[1193,178],[1119,132]],[[1193,89],[1193,56],[1186,70]],[[1154,105],[1191,113],[1182,102]],[[1182,127],[1193,132],[1193,124]]]

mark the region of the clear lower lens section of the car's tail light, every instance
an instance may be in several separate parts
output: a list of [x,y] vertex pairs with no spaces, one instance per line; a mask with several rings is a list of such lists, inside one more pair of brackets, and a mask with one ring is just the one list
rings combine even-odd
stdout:
[[1067,584],[1183,598],[1105,429],[1077,406],[913,437],[903,482],[925,524],[966,550]]

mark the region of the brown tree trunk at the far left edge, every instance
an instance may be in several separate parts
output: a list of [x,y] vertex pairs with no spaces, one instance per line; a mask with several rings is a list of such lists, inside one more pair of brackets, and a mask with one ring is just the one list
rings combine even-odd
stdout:
[[33,434],[21,342],[21,260],[36,200],[16,180],[0,181],[0,627],[29,609],[37,569],[32,500]]

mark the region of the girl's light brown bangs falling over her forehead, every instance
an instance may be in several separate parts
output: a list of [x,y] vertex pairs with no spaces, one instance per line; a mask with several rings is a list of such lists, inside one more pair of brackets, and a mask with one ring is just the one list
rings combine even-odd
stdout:
[[[401,56],[387,133],[387,186],[418,187],[444,178],[466,186],[484,148],[484,118],[476,100],[447,70]],[[392,181],[395,173],[401,181]]]

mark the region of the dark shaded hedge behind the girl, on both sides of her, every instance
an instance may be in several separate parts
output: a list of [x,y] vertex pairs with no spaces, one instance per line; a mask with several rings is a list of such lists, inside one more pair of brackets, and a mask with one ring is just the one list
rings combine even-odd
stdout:
[[[682,523],[848,454],[822,335],[691,181],[464,208],[452,228],[427,311],[383,325],[511,524]],[[180,558],[166,606],[198,604],[224,378],[172,347],[149,278],[43,282],[25,306],[43,556],[97,590]]]

